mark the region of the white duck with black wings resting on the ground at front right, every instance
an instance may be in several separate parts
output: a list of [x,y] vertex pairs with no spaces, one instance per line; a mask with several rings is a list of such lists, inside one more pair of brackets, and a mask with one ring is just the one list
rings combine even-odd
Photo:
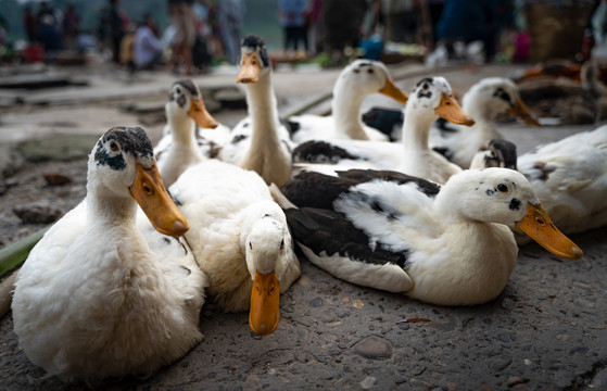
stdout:
[[390,171],[302,172],[273,194],[313,264],[435,305],[497,298],[517,260],[511,228],[557,256],[583,255],[508,168],[463,171],[443,186]]

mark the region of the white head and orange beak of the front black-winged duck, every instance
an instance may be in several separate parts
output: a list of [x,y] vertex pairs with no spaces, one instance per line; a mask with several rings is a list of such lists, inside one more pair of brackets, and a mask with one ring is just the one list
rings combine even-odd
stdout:
[[[518,228],[551,253],[579,258],[582,250],[562,235],[544,211],[531,184],[507,168],[466,169],[453,175],[441,192],[448,211],[469,220],[498,223]],[[451,200],[447,200],[451,199]]]

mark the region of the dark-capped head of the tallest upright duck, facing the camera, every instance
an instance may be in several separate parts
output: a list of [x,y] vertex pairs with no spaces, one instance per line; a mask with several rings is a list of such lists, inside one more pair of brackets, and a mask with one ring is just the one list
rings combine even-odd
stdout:
[[262,38],[255,35],[244,37],[240,46],[240,72],[236,83],[257,83],[260,76],[270,70],[271,64]]

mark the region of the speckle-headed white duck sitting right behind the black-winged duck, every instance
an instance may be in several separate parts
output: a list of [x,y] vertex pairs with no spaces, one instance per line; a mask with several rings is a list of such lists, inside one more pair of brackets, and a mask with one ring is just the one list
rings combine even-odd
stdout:
[[363,161],[375,169],[395,169],[444,184],[461,168],[428,146],[430,126],[439,117],[466,126],[475,124],[475,119],[461,110],[453,97],[451,85],[444,77],[426,77],[417,83],[409,94],[405,106],[402,142],[306,142],[295,148],[293,159],[298,164],[338,163],[344,167],[352,167],[356,161]]

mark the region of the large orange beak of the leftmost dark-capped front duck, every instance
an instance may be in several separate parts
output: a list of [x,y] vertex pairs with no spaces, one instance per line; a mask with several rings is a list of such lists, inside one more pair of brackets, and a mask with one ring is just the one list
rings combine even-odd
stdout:
[[137,175],[129,187],[132,198],[139,203],[154,228],[161,234],[179,237],[186,234],[190,224],[164,188],[156,163],[150,168],[136,164]]

